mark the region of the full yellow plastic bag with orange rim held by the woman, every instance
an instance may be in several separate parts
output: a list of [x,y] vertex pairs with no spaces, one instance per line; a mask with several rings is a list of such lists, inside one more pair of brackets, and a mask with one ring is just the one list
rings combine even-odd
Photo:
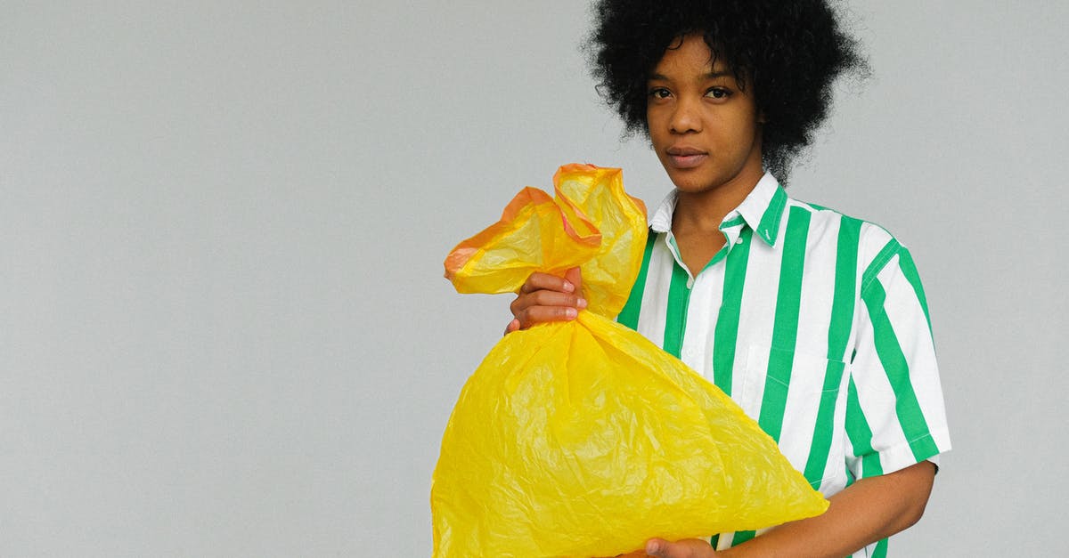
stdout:
[[647,234],[619,169],[569,165],[554,183],[556,200],[525,188],[446,260],[462,293],[579,265],[589,306],[506,336],[464,386],[434,470],[434,556],[615,556],[822,513],[723,391],[610,320]]

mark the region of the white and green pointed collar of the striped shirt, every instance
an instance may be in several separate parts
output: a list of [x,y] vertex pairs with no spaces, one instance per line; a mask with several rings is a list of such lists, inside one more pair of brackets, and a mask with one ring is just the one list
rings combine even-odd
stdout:
[[[650,219],[650,228],[654,232],[671,231],[671,216],[676,211],[678,197],[679,191],[673,189],[657,206],[657,211]],[[721,230],[738,226],[741,218],[765,244],[774,246],[776,237],[779,235],[779,221],[783,219],[786,206],[787,192],[784,191],[775,176],[765,172],[746,196],[746,199],[724,216]]]

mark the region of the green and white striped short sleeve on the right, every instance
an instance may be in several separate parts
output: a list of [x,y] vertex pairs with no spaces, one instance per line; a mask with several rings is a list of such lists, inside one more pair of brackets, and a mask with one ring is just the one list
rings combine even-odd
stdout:
[[950,449],[931,322],[909,251],[892,238],[861,281],[847,394],[847,466],[861,479]]

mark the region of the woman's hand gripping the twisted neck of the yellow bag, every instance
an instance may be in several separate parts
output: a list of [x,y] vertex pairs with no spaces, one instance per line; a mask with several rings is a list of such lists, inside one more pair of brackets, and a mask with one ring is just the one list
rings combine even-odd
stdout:
[[514,320],[505,328],[505,335],[536,324],[575,320],[586,307],[578,267],[564,272],[564,277],[533,273],[509,307]]

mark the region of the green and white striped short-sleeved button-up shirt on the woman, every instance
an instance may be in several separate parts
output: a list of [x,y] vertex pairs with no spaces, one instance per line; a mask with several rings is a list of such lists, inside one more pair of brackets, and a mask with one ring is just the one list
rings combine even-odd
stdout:
[[723,389],[824,496],[950,449],[928,306],[898,241],[789,198],[766,173],[721,223],[724,248],[692,275],[675,207],[673,191],[652,216],[620,323]]

